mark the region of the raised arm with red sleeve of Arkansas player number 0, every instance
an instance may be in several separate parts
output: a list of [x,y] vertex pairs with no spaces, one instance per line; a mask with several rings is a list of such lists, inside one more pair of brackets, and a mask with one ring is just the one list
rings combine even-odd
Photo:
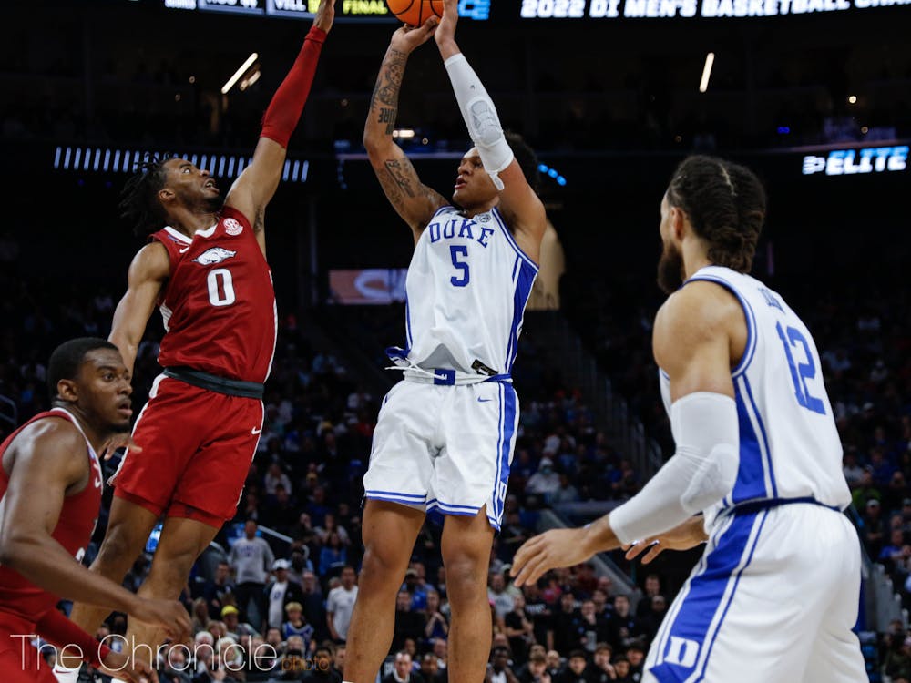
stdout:
[[225,199],[226,206],[241,211],[250,220],[263,253],[263,215],[266,205],[279,187],[288,141],[301,118],[320,59],[322,43],[333,25],[334,3],[335,0],[321,0],[310,32],[303,40],[300,54],[288,76],[285,76],[275,91],[269,108],[262,117],[262,132],[253,152],[252,163],[234,181]]

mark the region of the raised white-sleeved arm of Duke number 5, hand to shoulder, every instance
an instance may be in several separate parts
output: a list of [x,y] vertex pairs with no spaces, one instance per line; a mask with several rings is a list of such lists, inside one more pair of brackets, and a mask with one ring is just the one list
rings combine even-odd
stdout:
[[541,240],[548,226],[544,205],[528,185],[507,143],[493,100],[455,43],[457,0],[444,0],[443,7],[443,19],[434,37],[452,81],[455,99],[465,118],[468,134],[481,156],[481,163],[499,190],[500,211],[514,230],[518,246],[537,261]]

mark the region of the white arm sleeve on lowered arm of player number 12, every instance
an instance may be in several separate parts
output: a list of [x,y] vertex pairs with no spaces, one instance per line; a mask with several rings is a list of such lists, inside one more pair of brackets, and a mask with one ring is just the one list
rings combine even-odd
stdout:
[[650,538],[731,493],[740,464],[737,406],[721,393],[696,392],[670,407],[677,451],[642,490],[608,519],[620,542]]

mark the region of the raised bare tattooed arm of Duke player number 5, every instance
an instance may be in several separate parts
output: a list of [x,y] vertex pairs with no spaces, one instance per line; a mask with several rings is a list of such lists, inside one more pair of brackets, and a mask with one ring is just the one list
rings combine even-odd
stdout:
[[376,178],[386,198],[412,229],[415,242],[436,209],[445,206],[446,199],[421,183],[415,167],[404,151],[393,141],[395,118],[398,115],[399,90],[408,55],[415,47],[434,35],[435,19],[420,28],[403,26],[393,35],[376,76],[374,95],[370,100],[370,113],[363,127],[363,146],[374,167]]

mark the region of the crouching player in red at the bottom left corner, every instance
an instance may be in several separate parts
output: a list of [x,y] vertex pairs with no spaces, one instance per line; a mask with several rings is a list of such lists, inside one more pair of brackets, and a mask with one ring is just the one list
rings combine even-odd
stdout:
[[[30,641],[40,635],[107,673],[154,678],[145,664],[96,642],[55,608],[78,598],[165,627],[189,629],[178,602],[146,600],[77,560],[86,553],[101,504],[96,450],[129,427],[129,374],[117,347],[83,338],[57,347],[48,363],[54,408],[0,444],[0,671],[5,683],[53,681]],[[74,559],[75,557],[75,559]]]

